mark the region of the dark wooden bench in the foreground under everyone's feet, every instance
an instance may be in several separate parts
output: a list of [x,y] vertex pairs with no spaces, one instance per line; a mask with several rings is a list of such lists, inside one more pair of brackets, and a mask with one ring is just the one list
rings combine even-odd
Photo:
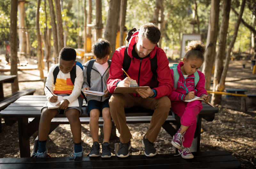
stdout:
[[126,158],[101,157],[46,157],[46,158],[0,158],[0,168],[140,168],[140,169],[234,169],[241,163],[226,151],[192,152],[194,158],[183,159],[175,154],[157,154],[154,157],[130,155]]

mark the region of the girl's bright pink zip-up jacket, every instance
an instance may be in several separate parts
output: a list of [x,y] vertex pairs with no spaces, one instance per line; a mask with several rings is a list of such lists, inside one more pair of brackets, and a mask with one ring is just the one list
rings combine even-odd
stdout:
[[[170,96],[171,101],[183,101],[185,99],[185,96],[188,94],[188,92],[194,91],[195,96],[202,97],[203,95],[207,95],[207,91],[204,88],[205,79],[204,79],[204,73],[197,71],[199,75],[199,81],[195,88],[195,76],[194,74],[189,75],[186,79],[184,78],[180,67],[182,67],[184,64],[183,62],[180,62],[177,66],[178,73],[180,75],[177,89],[172,88],[172,93]],[[173,79],[173,70],[172,72],[172,79]],[[174,82],[172,82],[172,86],[174,86]]]

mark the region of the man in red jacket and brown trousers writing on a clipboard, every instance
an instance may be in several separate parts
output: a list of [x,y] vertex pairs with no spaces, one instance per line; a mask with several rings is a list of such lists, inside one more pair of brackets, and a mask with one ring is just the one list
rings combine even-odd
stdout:
[[111,117],[120,133],[120,147],[118,157],[128,157],[131,148],[132,134],[126,124],[124,108],[136,105],[155,110],[150,121],[147,134],[144,135],[142,145],[145,147],[146,156],[155,156],[154,142],[158,133],[167,119],[171,108],[171,101],[167,97],[172,92],[172,76],[168,59],[164,50],[157,47],[161,32],[152,23],[142,25],[135,32],[128,45],[127,53],[131,57],[131,64],[127,70],[130,76],[124,78],[122,70],[125,46],[116,49],[112,57],[109,70],[107,88],[113,93],[116,87],[128,87],[131,80],[136,80],[139,86],[149,86],[153,73],[150,69],[150,59],[157,57],[157,81],[158,87],[137,89],[138,94],[114,93],[109,99]]

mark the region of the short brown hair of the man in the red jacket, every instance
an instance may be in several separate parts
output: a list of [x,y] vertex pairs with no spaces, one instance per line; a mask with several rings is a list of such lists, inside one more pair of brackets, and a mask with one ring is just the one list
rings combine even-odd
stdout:
[[139,34],[147,38],[150,42],[157,44],[161,37],[161,32],[153,23],[147,23],[140,27]]

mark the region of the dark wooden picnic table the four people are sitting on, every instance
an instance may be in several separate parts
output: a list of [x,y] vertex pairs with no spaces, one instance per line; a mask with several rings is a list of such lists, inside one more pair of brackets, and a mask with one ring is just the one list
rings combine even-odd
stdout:
[[[39,121],[41,117],[41,109],[46,102],[46,96],[35,96],[35,95],[28,95],[22,96],[14,103],[10,104],[7,108],[0,112],[0,115],[5,119],[5,121],[17,121],[18,120],[18,131],[19,131],[19,146],[20,146],[20,157],[30,157],[30,142],[29,138],[38,130]],[[86,103],[84,101],[83,106]],[[86,123],[89,124],[89,116],[87,115],[87,107],[82,107],[82,114],[80,115],[80,120],[85,119],[87,120]],[[197,120],[197,130],[196,136],[196,151],[200,149],[200,131],[201,131],[201,121],[202,118],[206,119],[207,121],[212,121],[214,119],[215,113],[218,113],[219,109],[217,107],[211,107],[208,104],[203,103],[203,110],[200,111]],[[154,113],[153,110],[145,109],[145,108],[129,108],[125,110],[127,123],[149,123],[150,116]],[[141,116],[141,117],[139,117]],[[148,116],[148,117],[147,117]],[[129,118],[130,117],[130,118]],[[136,117],[136,118],[134,118]],[[34,118],[32,121],[29,122],[29,118]],[[52,121],[61,118],[66,119],[65,115],[59,114],[56,115]],[[176,116],[175,116],[176,118]],[[101,120],[101,122],[100,122]],[[103,123],[102,117],[100,117],[99,124]],[[170,111],[169,116],[162,126],[171,136],[175,134],[175,129],[170,124],[173,122],[178,123],[179,119],[172,118],[172,112]],[[82,120],[81,120],[82,123]],[[55,123],[56,124],[56,123]],[[66,124],[57,122],[59,124]],[[51,126],[52,127],[52,126]],[[55,126],[56,128],[57,126]]]

